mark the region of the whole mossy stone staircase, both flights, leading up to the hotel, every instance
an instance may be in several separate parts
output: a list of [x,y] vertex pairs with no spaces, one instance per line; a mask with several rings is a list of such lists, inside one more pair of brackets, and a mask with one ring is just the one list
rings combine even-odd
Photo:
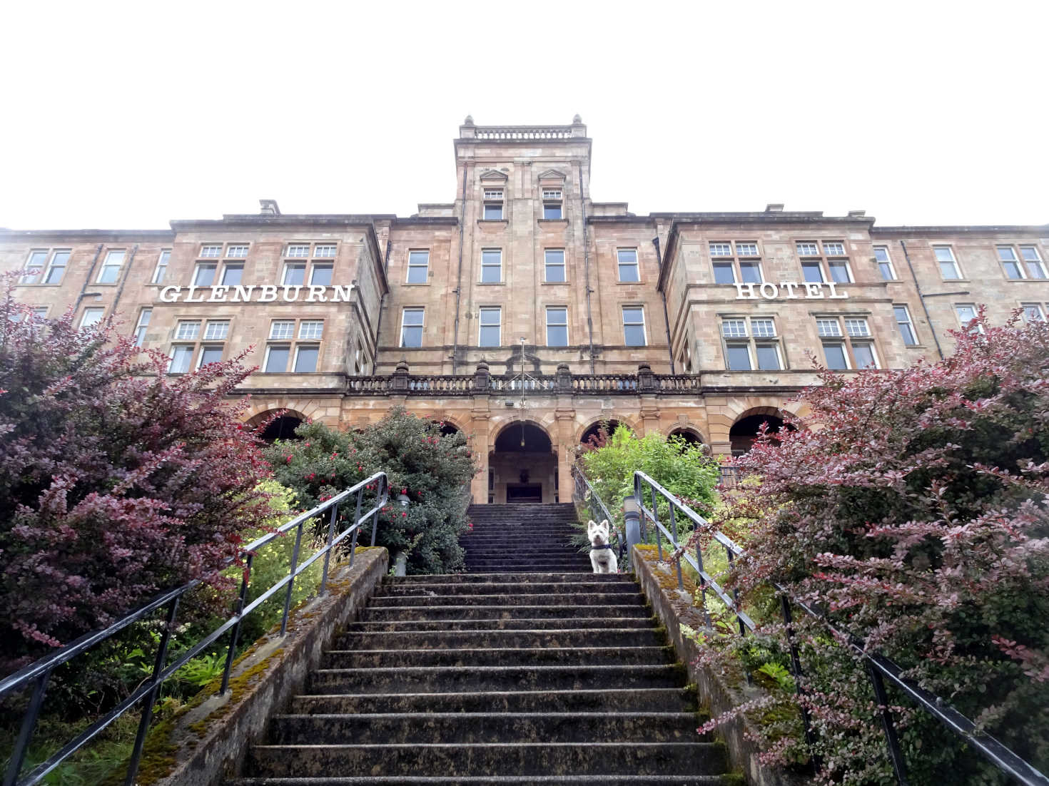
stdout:
[[471,514],[470,573],[387,577],[229,783],[738,783],[638,586],[565,544],[572,506]]

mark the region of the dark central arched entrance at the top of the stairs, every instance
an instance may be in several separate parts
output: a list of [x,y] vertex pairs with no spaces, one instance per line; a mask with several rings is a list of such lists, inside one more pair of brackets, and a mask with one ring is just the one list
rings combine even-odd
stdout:
[[557,454],[545,430],[528,420],[514,420],[496,435],[488,456],[488,500],[556,502]]

